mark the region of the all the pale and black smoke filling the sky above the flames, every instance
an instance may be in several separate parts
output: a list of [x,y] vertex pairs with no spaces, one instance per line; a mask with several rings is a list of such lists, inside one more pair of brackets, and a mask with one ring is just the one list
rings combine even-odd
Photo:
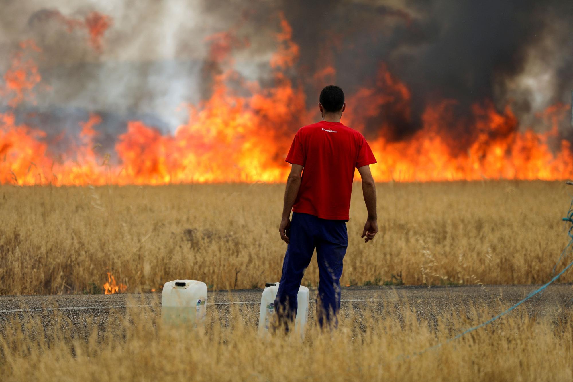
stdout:
[[[92,11],[112,20],[101,51],[85,29],[63,22]],[[103,116],[97,128],[112,145],[128,119],[175,130],[186,119],[180,106],[208,97],[224,65],[246,79],[272,81],[268,61],[280,11],[300,46],[286,75],[304,87],[309,106],[330,82],[349,96],[375,88],[382,65],[410,89],[411,114],[381,106],[366,120],[367,135],[384,125],[390,139],[406,139],[435,99],[457,100],[460,118],[486,99],[499,110],[511,103],[525,127],[536,127],[536,113],[550,104],[569,101],[573,13],[563,1],[4,0],[0,53],[9,57],[25,38],[42,49],[38,65],[50,88],[36,106],[22,106],[42,116],[31,124],[71,129],[97,112]],[[230,49],[232,59],[214,60],[207,38],[229,30],[245,43]],[[359,114],[365,105],[348,107]]]

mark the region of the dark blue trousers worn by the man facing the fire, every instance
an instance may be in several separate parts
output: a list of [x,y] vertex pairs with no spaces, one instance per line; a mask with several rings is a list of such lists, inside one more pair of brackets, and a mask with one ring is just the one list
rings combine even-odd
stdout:
[[340,310],[340,275],[348,247],[346,220],[320,219],[307,213],[292,213],[289,244],[286,247],[282,276],[274,309],[278,320],[288,330],[296,317],[297,295],[304,271],[316,248],[320,282],[316,298],[316,317],[321,328],[336,327]]

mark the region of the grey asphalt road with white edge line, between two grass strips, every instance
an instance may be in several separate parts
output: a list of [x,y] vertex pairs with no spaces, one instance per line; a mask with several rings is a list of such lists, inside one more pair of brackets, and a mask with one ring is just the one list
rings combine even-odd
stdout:
[[[408,308],[418,318],[436,319],[442,314],[469,311],[473,307],[488,307],[495,315],[519,302],[539,286],[453,286],[453,287],[345,287],[342,291],[341,314],[360,314],[370,307],[380,316]],[[219,318],[227,322],[229,312],[239,309],[249,322],[256,325],[262,290],[209,292],[207,310],[215,309]],[[316,290],[311,290],[309,321],[313,321]],[[81,328],[86,319],[96,319],[107,325],[113,314],[126,310],[145,309],[146,314],[160,314],[160,294],[116,295],[54,295],[0,297],[0,325],[17,317],[54,317],[63,315],[72,326]],[[573,286],[557,284],[522,305],[529,315],[564,315],[573,308]],[[393,309],[398,308],[398,309]],[[489,317],[486,317],[486,319]]]

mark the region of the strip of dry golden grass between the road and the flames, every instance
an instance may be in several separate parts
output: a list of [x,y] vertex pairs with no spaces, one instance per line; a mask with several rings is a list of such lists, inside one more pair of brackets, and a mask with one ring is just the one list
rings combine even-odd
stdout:
[[[379,227],[360,239],[354,186],[343,284],[516,284],[548,280],[568,241],[561,182],[379,184]],[[128,291],[197,279],[214,289],[280,278],[284,185],[0,187],[0,294]],[[395,276],[393,278],[393,275]],[[570,281],[570,274],[560,281]],[[316,286],[311,263],[303,284]]]

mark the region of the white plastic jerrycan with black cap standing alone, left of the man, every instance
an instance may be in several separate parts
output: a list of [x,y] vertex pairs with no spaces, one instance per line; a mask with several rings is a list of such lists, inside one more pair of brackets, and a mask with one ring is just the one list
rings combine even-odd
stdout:
[[161,318],[164,323],[205,325],[207,285],[197,280],[173,280],[163,285]]

